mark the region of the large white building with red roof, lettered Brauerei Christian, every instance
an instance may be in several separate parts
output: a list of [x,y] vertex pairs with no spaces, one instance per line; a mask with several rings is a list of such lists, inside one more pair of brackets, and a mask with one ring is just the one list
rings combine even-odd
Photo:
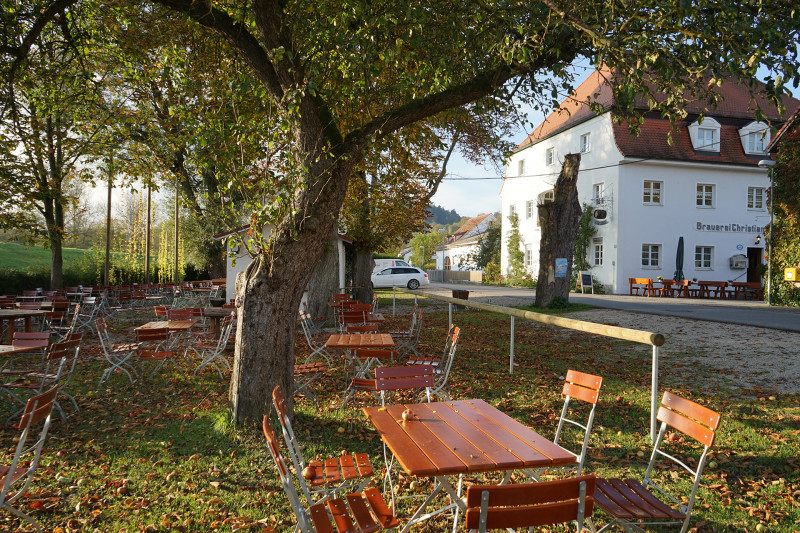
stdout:
[[[681,236],[684,278],[760,281],[769,178],[758,162],[769,158],[770,126],[780,126],[800,102],[789,99],[781,116],[757,98],[768,126],[755,120],[747,88],[726,82],[718,89],[724,101],[712,110],[687,108],[670,143],[669,121],[645,106],[638,137],[626,122],[614,124],[603,79],[592,74],[509,159],[500,191],[502,271],[508,271],[508,216],[515,212],[526,268],[538,275],[537,204],[552,198],[564,155],[580,153],[578,195],[595,210],[597,229],[587,258],[609,292],[627,293],[631,277],[671,279]],[[599,114],[587,105],[592,95],[603,105]]]

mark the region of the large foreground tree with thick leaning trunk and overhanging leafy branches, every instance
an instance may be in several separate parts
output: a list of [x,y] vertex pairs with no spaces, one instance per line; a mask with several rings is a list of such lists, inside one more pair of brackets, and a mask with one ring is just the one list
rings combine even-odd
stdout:
[[[251,423],[267,411],[264,398],[275,385],[292,388],[308,265],[322,256],[348,182],[377,141],[472,102],[554,105],[558,91],[569,89],[570,65],[583,58],[618,70],[615,102],[631,113],[641,97],[652,101],[653,112],[676,118],[686,98],[713,100],[700,74],[749,78],[765,65],[780,73],[769,80],[772,96],[787,79],[800,83],[800,15],[791,2],[590,0],[568,9],[557,0],[155,3],[174,11],[161,16],[165,35],[180,31],[178,14],[227,43],[259,82],[258,89],[235,90],[274,110],[277,127],[259,140],[282,151],[253,173],[258,179],[237,175],[230,183],[248,190],[236,208],[252,221],[256,259],[237,283],[229,402],[236,421]],[[79,7],[112,11],[123,25],[130,11],[157,11],[132,0],[4,6],[6,77],[24,68],[43,28],[65,13],[87,16]]]

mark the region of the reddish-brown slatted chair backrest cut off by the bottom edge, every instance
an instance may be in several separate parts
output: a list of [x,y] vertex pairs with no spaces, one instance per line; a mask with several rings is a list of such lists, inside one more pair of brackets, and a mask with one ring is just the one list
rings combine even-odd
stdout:
[[484,533],[576,522],[580,533],[585,521],[594,531],[594,494],[593,475],[518,485],[472,485],[467,489],[466,527]]

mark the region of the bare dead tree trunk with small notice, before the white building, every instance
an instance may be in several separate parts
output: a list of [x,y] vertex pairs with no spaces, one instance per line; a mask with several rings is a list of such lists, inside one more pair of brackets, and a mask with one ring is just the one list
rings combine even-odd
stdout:
[[[542,239],[539,243],[536,307],[548,307],[556,298],[569,301],[572,254],[581,219],[577,188],[580,164],[580,154],[568,154],[556,181],[553,202],[538,206]],[[567,260],[564,277],[556,277],[556,259],[559,258]]]

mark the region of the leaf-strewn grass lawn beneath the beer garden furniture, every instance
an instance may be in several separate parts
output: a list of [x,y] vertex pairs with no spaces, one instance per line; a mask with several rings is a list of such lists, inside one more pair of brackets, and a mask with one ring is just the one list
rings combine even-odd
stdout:
[[[386,297],[382,311],[391,314]],[[439,352],[447,312],[431,309],[424,320],[421,342],[426,351]],[[601,375],[604,383],[586,470],[604,476],[641,476],[647,458],[640,455],[650,449],[647,346],[517,321],[519,366],[510,376],[508,317],[461,311],[454,321],[461,327],[451,375],[454,399],[483,398],[552,437],[567,369]],[[384,329],[407,324],[407,316],[390,318]],[[72,385],[81,412],[67,422],[54,415],[36,480],[21,500],[24,511],[56,532],[293,529],[294,518],[264,438],[256,428],[230,424],[228,384],[216,372],[205,372],[195,380],[164,376],[133,385],[116,374],[98,387],[105,365],[92,337],[81,353],[84,357]],[[308,353],[302,334],[297,353],[298,357]],[[733,390],[710,393],[702,375],[686,379],[691,369],[672,370],[666,362],[662,370],[663,389],[722,414],[713,465],[706,468],[698,493],[694,531],[757,531],[759,524],[766,531],[797,531],[800,397],[746,398]],[[344,386],[341,368],[333,369],[314,386],[319,409],[297,399],[294,427],[306,459],[335,456],[343,450],[367,452],[379,469],[383,454],[374,429],[358,413],[349,431],[352,409],[338,410]],[[69,407],[67,400],[63,406]],[[2,431],[4,464],[13,454],[15,434]],[[402,495],[419,495],[431,486],[427,480],[395,473]],[[499,480],[497,475],[489,479]],[[466,479],[484,480],[482,475]],[[415,503],[419,499],[401,501],[397,510],[401,523]],[[605,523],[600,512],[595,519]],[[0,529],[14,531],[19,524],[8,512],[0,513]],[[415,531],[447,527],[448,520],[439,518]]]

